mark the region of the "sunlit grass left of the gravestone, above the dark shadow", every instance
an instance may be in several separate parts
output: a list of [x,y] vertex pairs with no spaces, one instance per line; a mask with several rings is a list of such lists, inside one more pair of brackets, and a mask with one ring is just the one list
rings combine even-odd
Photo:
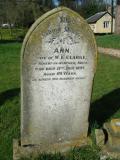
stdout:
[[20,43],[0,44],[0,92],[20,86]]

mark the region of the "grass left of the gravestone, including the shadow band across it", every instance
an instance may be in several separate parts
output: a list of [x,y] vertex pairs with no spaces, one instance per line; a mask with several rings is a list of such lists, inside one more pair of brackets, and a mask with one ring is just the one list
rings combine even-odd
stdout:
[[12,160],[13,138],[20,137],[20,47],[0,44],[0,160]]

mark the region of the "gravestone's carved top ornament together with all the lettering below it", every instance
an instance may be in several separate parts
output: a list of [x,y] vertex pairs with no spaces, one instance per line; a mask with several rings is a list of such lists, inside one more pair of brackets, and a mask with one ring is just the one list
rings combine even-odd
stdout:
[[75,20],[65,16],[61,16],[59,19],[60,26],[49,29],[42,37],[46,44],[45,48],[47,48],[47,51],[43,50],[43,53],[48,52],[48,55],[39,55],[35,60],[36,63],[32,64],[34,73],[32,81],[86,78],[87,56],[83,52],[78,52],[81,50],[79,46],[81,35],[79,32],[71,30],[68,25],[73,24]]

